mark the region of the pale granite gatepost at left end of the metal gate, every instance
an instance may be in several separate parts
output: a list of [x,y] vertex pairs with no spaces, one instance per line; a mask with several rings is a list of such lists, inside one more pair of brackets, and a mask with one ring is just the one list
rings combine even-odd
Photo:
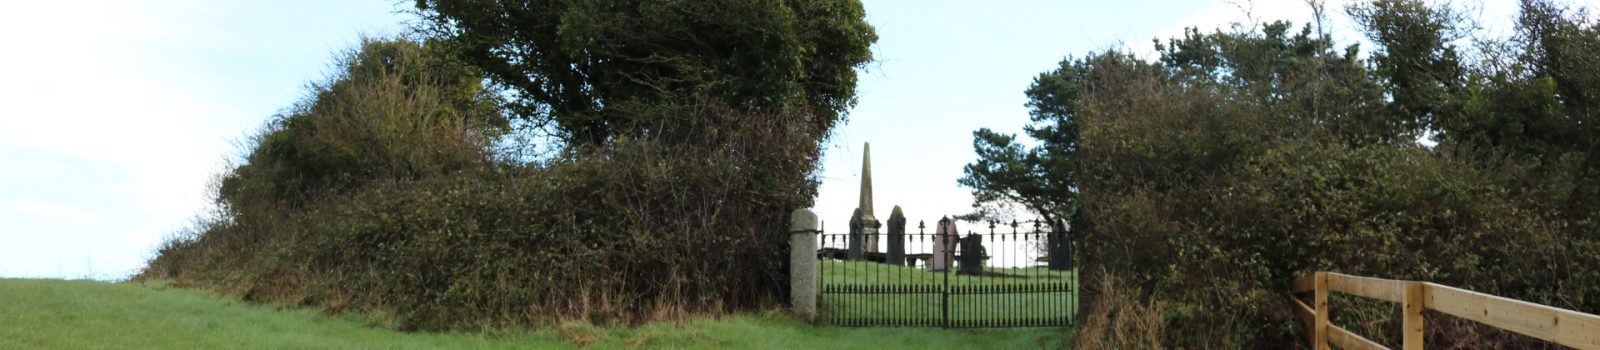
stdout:
[[789,214],[789,300],[795,315],[816,320],[818,261],[816,213],[797,209]]

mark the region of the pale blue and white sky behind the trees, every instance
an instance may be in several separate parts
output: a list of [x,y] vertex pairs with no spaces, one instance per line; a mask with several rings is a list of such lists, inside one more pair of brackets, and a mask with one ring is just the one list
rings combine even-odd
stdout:
[[[1360,35],[1330,0],[1341,43]],[[1587,0],[1589,6],[1594,2]],[[1509,22],[1512,0],[1480,18]],[[330,74],[362,35],[405,30],[394,0],[19,2],[0,11],[0,276],[118,280],[210,208],[240,142]],[[1021,133],[1022,89],[1066,56],[1128,50],[1246,18],[1306,22],[1298,0],[864,0],[875,62],[826,145],[813,208],[830,232],[856,208],[872,142],[875,213],[971,211],[957,185],[971,133]],[[1248,8],[1250,11],[1245,11]],[[1250,16],[1246,16],[1246,13]],[[915,225],[915,224],[912,224]]]

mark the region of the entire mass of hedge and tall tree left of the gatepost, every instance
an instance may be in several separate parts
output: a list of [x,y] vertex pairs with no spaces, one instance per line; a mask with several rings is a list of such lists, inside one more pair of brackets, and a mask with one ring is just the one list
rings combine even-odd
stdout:
[[[139,278],[406,329],[782,296],[786,216],[816,197],[821,141],[877,40],[859,2],[416,6],[437,38],[344,56]],[[562,152],[498,152],[539,131]]]

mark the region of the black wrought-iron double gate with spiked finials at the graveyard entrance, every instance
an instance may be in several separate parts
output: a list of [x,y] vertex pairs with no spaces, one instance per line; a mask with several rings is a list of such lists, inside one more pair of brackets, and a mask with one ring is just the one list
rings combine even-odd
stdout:
[[947,219],[918,222],[917,233],[890,222],[877,240],[872,230],[822,233],[822,318],[838,326],[1070,326],[1078,310],[1072,245],[1061,225],[1030,224],[1030,232],[1010,222],[1011,233],[997,233],[989,222],[989,233],[955,235]]

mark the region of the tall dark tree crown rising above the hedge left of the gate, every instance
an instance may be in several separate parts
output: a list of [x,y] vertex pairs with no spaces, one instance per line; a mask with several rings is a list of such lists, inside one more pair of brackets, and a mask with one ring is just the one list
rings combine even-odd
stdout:
[[856,69],[877,42],[856,0],[418,0],[416,8],[427,29],[515,94],[515,117],[554,126],[573,147],[672,129],[648,110],[704,101],[802,109],[821,139],[854,104]]

